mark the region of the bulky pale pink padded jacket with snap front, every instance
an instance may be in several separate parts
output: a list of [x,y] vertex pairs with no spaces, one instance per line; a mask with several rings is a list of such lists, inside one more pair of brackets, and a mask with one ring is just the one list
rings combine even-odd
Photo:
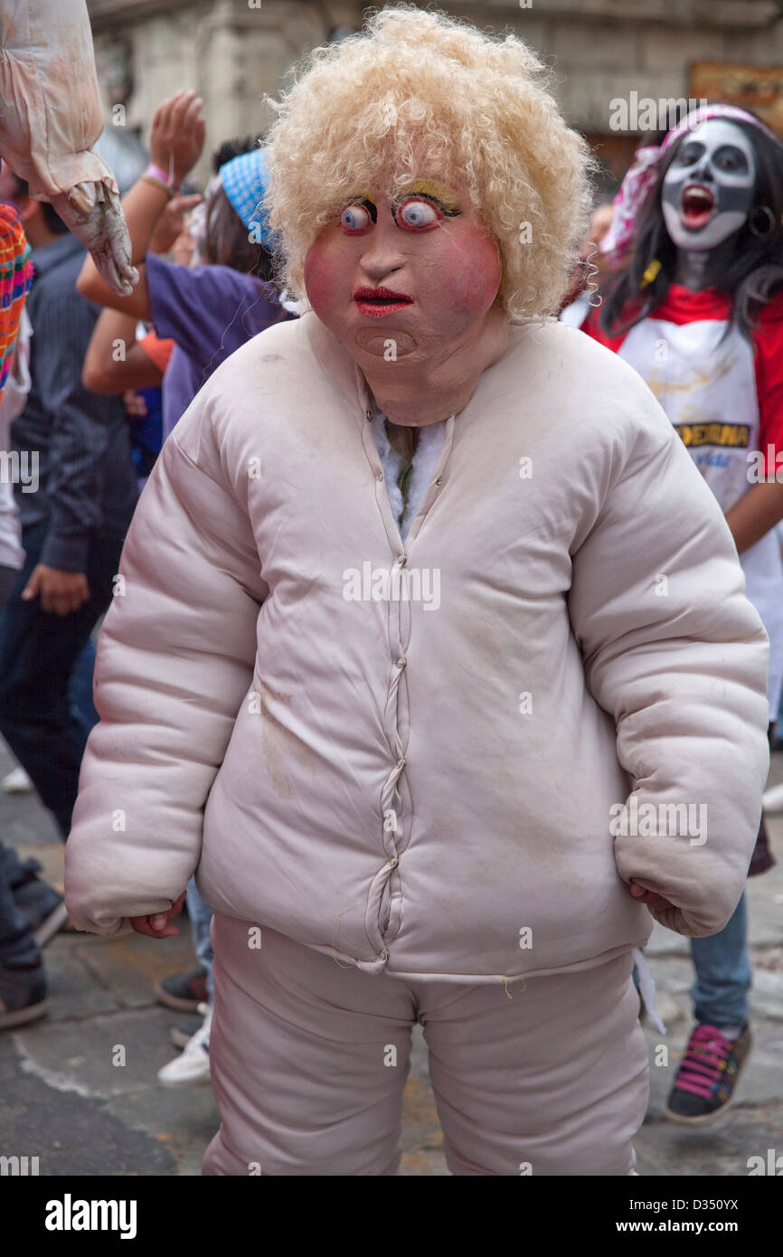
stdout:
[[[768,645],[713,494],[637,373],[512,327],[408,535],[315,314],[166,442],[101,635],[67,904],[117,934],[191,874],[341,963],[513,980],[684,934],[743,889]],[[623,812],[625,808],[625,812]]]

